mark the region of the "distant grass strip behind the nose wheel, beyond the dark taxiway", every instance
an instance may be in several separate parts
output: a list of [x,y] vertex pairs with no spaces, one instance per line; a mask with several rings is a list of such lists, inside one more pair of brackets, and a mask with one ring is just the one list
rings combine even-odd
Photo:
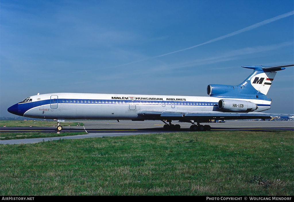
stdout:
[[[56,121],[31,121],[31,120],[1,120],[0,121],[0,127],[3,126],[6,127],[39,127],[39,126],[57,126],[57,122]],[[61,125],[64,126],[76,126],[76,125],[81,125],[83,126],[83,123],[80,122],[61,122]]]

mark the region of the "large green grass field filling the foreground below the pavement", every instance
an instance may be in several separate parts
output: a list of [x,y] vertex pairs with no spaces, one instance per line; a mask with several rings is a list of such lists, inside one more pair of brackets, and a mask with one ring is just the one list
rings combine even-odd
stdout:
[[294,195],[293,131],[0,145],[0,194]]

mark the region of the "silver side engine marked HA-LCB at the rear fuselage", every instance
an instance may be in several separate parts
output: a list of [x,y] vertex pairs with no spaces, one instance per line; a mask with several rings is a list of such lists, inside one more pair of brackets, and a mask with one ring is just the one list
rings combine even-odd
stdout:
[[253,112],[257,110],[257,105],[253,102],[243,100],[220,100],[218,108],[227,112]]

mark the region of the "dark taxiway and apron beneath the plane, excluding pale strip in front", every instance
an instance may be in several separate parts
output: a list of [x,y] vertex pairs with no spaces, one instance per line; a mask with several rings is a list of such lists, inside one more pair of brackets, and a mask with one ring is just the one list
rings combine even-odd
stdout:
[[[82,121],[84,126],[67,126],[66,122],[61,123],[62,132],[84,132],[88,133],[134,133],[134,132],[173,132],[163,130],[161,121],[129,121],[116,120],[108,121]],[[190,123],[172,122],[180,124],[180,131],[190,131]],[[203,123],[211,126],[211,131],[219,130],[292,130],[293,121],[248,121],[248,120],[228,120],[225,123]],[[1,132],[57,132],[56,127],[0,127]]]

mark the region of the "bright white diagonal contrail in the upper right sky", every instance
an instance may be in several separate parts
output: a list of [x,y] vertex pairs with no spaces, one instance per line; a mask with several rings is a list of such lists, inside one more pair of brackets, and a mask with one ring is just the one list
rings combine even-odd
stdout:
[[249,31],[249,30],[251,30],[251,29],[254,29],[254,28],[260,27],[260,26],[262,26],[262,25],[265,25],[265,24],[271,23],[271,22],[273,22],[273,21],[277,21],[277,20],[279,20],[279,19],[282,19],[282,18],[285,18],[285,17],[291,16],[291,15],[293,15],[293,14],[294,14],[294,11],[291,11],[291,12],[289,12],[289,13],[285,13],[285,14],[282,14],[282,15],[276,16],[276,17],[274,17],[274,18],[270,18],[270,19],[268,19],[268,20],[264,20],[264,21],[262,21],[262,22],[256,23],[256,24],[251,25],[251,26],[249,26],[249,27],[245,27],[245,28],[240,29],[240,30],[238,30],[238,31],[234,31],[234,32],[232,32],[232,33],[230,33],[230,34],[227,34],[227,35],[224,35],[224,36],[220,36],[220,37],[218,37],[218,38],[211,39],[211,40],[209,40],[209,41],[206,41],[206,42],[204,42],[204,43],[198,44],[198,45],[196,45],[196,46],[191,46],[191,47],[189,47],[189,48],[184,48],[184,49],[181,49],[181,50],[176,50],[176,51],[173,51],[173,52],[170,52],[170,53],[166,53],[166,54],[163,54],[163,55],[158,55],[158,56],[155,56],[155,57],[153,57],[153,58],[159,58],[159,57],[162,57],[162,56],[164,56],[164,55],[170,55],[170,54],[173,54],[173,53],[178,53],[178,52],[181,52],[181,51],[184,51],[184,50],[189,50],[189,49],[192,49],[192,48],[196,48],[196,47],[198,47],[198,46],[202,46],[202,45],[207,44],[207,43],[212,43],[212,42],[215,42],[215,41],[219,41],[219,40],[222,40],[222,39],[224,39],[224,38],[228,38],[228,37],[230,37],[230,36],[234,36],[234,35],[237,35],[237,34],[243,33],[243,32],[245,32],[245,31]]

